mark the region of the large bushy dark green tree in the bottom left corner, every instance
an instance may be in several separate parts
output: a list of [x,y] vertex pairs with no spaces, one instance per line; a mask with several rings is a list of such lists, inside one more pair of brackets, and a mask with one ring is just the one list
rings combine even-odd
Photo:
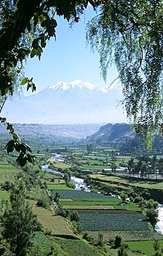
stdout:
[[32,212],[32,206],[25,199],[25,185],[17,181],[10,190],[10,205],[1,218],[3,238],[10,244],[10,250],[15,255],[26,255],[32,246],[34,231],[39,223]]

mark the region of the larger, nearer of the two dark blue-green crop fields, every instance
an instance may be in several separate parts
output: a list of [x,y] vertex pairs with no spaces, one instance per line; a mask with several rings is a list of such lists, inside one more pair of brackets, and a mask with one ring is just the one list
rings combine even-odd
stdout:
[[149,230],[142,214],[80,214],[83,230]]

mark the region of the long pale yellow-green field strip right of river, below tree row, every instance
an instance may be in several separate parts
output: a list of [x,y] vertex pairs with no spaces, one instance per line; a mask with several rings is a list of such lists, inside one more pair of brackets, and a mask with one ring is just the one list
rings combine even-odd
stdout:
[[120,183],[120,185],[130,185],[142,188],[155,188],[157,190],[163,190],[163,182],[156,181],[136,181],[136,178],[127,178],[120,176],[106,176],[103,174],[90,174],[91,179],[98,179],[99,181]]

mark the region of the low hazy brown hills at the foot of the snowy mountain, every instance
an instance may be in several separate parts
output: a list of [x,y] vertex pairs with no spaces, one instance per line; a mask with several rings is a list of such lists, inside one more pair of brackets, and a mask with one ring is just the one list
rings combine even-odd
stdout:
[[[0,124],[0,134],[8,134],[6,127]],[[14,124],[14,129],[23,136],[67,138],[70,141],[85,139],[86,143],[103,144],[108,142],[124,141],[133,138],[135,133],[130,125],[125,123],[113,124],[78,124],[78,125],[40,125]]]

